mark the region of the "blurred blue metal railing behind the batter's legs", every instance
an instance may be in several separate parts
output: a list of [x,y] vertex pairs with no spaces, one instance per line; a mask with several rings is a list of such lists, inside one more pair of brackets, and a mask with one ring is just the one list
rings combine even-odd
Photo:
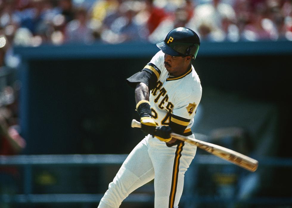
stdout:
[[[16,194],[13,196],[4,194],[0,195],[0,201],[13,202],[13,203],[97,203],[102,198],[103,194],[33,194],[32,193],[32,171],[33,167],[38,166],[111,166],[121,165],[127,154],[72,154],[72,155],[17,155],[17,156],[0,156],[1,166],[18,166],[24,168],[23,170],[23,194]],[[275,158],[265,157],[259,160],[259,169],[273,166],[273,167],[286,167],[292,168],[292,158]],[[198,154],[192,161],[192,165],[233,165],[225,160],[209,154]],[[242,171],[246,171],[242,169]],[[132,193],[126,199],[125,202],[152,202],[153,193]],[[228,202],[229,199],[214,199],[208,197],[196,197],[190,195],[183,195],[181,201],[188,200],[189,198],[196,198],[198,201],[210,201],[210,202]],[[232,200],[234,201],[234,199]],[[292,198],[252,198],[246,201],[237,201],[244,203],[280,203],[280,204],[292,204]]]

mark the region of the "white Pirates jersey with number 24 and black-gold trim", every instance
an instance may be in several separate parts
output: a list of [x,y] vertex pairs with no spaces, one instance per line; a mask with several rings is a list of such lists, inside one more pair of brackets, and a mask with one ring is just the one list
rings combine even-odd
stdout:
[[156,123],[161,126],[172,121],[190,129],[202,96],[201,82],[194,67],[179,76],[170,76],[164,67],[164,53],[159,51],[143,70],[152,71],[157,77],[156,87],[149,96]]

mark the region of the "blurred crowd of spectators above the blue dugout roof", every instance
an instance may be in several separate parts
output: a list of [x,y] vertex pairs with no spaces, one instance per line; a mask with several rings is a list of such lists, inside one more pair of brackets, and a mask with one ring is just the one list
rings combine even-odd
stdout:
[[0,0],[0,66],[13,47],[163,40],[186,26],[202,41],[292,41],[291,0]]

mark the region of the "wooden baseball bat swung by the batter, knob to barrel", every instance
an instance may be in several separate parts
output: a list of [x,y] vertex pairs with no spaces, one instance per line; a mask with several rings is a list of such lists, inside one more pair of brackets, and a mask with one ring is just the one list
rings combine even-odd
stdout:
[[[131,127],[138,127],[141,128],[141,123],[136,121],[135,119],[132,120],[131,123]],[[257,170],[257,166],[258,166],[258,161],[255,159],[252,159],[250,157],[247,157],[246,155],[240,154],[236,151],[233,151],[231,149],[225,148],[225,147],[221,147],[219,145],[215,145],[212,143],[208,143],[208,142],[204,142],[201,140],[197,140],[191,137],[185,137],[179,134],[175,134],[175,133],[171,133],[170,134],[171,137],[181,140],[181,141],[185,141],[188,143],[191,143],[195,146],[198,146],[199,148],[214,154],[217,157],[221,157],[222,159],[225,159],[229,162],[234,163],[235,165],[238,165],[242,168],[245,168],[248,171],[254,172]]]

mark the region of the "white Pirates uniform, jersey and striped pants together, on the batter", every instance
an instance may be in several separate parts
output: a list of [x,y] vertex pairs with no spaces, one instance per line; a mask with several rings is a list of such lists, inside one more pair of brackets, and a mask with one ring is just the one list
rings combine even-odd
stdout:
[[[193,66],[180,76],[169,76],[164,67],[164,53],[159,51],[141,72],[127,81],[132,87],[145,82],[152,89],[149,101],[152,117],[158,125],[169,125],[175,133],[194,138],[190,127],[202,88]],[[119,207],[131,192],[152,179],[154,207],[177,208],[184,187],[184,173],[195,157],[196,149],[180,140],[168,144],[147,135],[128,155],[98,208]]]

